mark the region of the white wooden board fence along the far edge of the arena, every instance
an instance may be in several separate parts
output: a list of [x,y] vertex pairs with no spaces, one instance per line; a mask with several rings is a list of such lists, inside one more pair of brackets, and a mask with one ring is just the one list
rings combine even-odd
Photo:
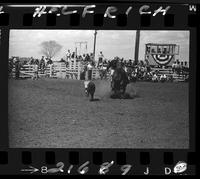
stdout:
[[[31,78],[34,75],[34,65],[23,65],[20,68],[21,78]],[[153,71],[158,71],[158,76],[165,74],[169,78],[173,78],[174,81],[185,81],[185,75],[178,75],[172,72],[172,69],[152,68]],[[50,78],[67,78],[73,80],[80,80],[81,73],[84,71],[84,65],[76,59],[71,59],[68,66],[64,62],[53,62],[45,67],[44,70],[39,69],[39,77]],[[12,77],[15,77],[15,67],[12,70]],[[107,75],[109,77],[109,74]],[[100,71],[98,68],[93,68],[92,79],[99,79]]]

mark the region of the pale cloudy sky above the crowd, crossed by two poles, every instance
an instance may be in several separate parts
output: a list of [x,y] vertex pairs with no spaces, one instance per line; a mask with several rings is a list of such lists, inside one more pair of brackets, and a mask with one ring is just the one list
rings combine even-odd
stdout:
[[[135,30],[98,30],[96,56],[102,51],[104,57],[115,56],[125,60],[134,59]],[[144,60],[146,43],[171,43],[180,46],[176,59],[189,61],[189,31],[140,31],[139,60]],[[68,49],[75,51],[75,42],[87,41],[87,52],[93,52],[94,30],[10,30],[9,57],[41,58],[41,43],[55,40],[62,49],[53,60],[65,57]],[[82,46],[82,51],[84,48]]]

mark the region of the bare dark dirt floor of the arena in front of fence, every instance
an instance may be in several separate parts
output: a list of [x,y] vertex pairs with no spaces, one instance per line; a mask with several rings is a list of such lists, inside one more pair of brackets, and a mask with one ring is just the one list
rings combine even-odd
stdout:
[[109,81],[9,80],[11,148],[188,148],[188,83],[137,82],[134,99],[109,98]]

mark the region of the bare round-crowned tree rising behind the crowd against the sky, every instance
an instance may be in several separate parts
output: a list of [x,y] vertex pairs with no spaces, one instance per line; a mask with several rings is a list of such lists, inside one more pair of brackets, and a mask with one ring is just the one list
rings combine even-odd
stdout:
[[62,46],[54,40],[42,42],[41,46],[41,53],[49,59],[54,57],[62,48]]

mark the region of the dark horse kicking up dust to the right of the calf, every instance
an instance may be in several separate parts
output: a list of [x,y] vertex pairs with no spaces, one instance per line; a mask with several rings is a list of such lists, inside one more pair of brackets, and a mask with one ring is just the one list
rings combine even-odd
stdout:
[[122,67],[122,63],[118,59],[111,61],[108,65],[109,68],[114,70],[111,77],[111,92],[114,96],[121,98],[125,95],[126,86],[129,83],[128,76]]

